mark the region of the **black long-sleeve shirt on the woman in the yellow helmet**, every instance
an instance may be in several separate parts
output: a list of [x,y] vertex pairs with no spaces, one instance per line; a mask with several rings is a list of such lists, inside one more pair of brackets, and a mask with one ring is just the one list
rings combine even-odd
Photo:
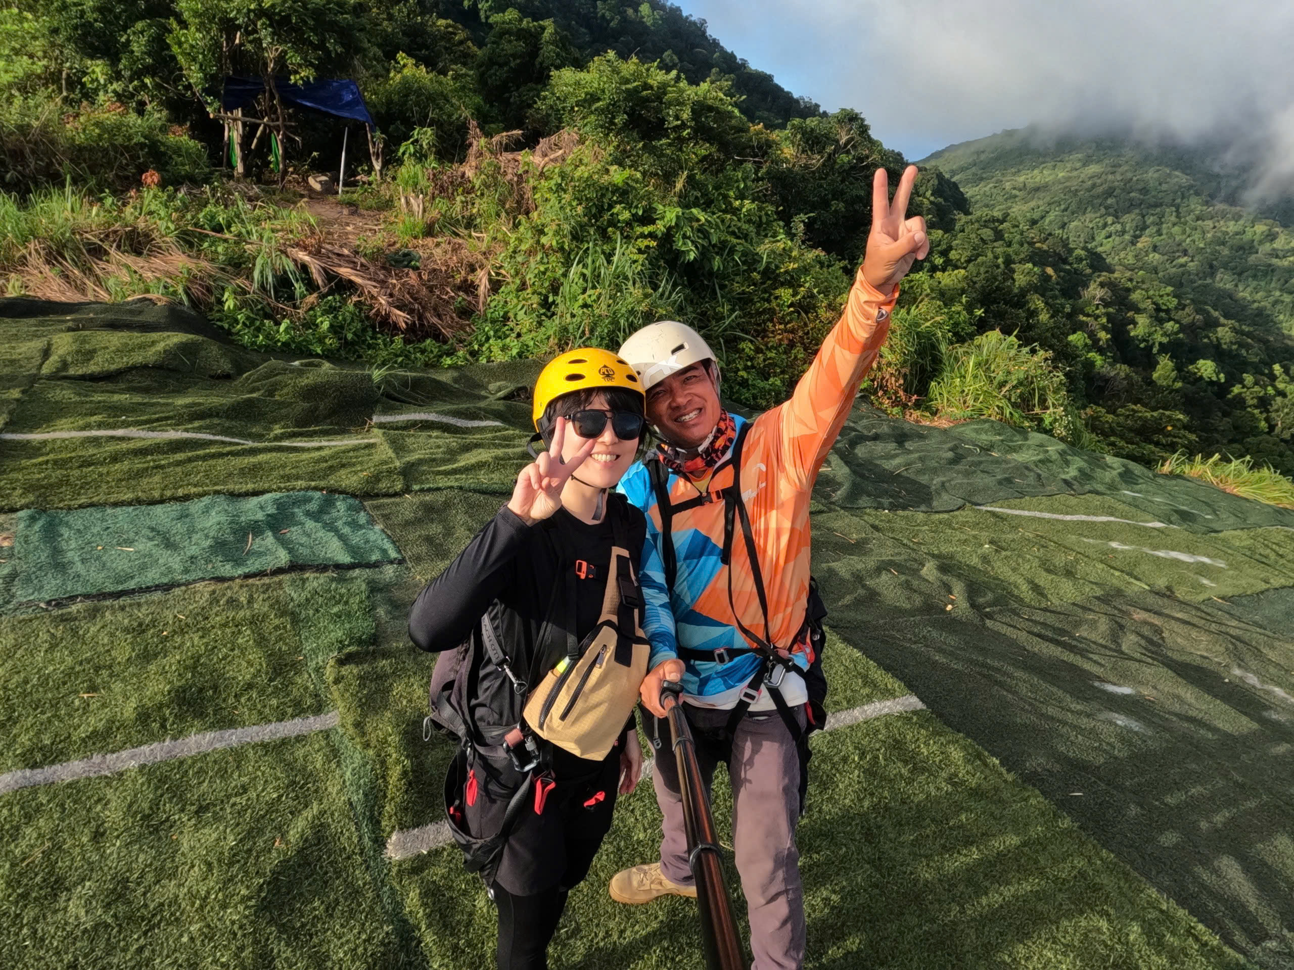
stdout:
[[[647,534],[643,513],[615,493],[608,501],[622,503],[629,524],[628,552],[637,564]],[[585,578],[576,581],[576,639],[584,640],[597,626],[613,541],[609,510],[593,525],[564,508],[542,523],[525,525],[505,506],[418,594],[409,613],[409,636],[423,651],[454,649],[488,610],[512,671],[533,687],[565,653],[567,572],[575,570],[580,560],[586,566],[581,569]],[[545,635],[546,622],[550,632]],[[511,689],[511,682],[483,652],[476,683],[468,689],[472,720],[479,727],[511,727],[501,723]],[[587,762],[582,762],[585,766]]]

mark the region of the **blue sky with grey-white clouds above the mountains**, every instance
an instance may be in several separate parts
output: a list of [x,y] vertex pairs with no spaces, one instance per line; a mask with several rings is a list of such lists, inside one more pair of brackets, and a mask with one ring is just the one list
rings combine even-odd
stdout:
[[675,3],[911,159],[1033,122],[1189,140],[1244,120],[1294,180],[1290,0]]

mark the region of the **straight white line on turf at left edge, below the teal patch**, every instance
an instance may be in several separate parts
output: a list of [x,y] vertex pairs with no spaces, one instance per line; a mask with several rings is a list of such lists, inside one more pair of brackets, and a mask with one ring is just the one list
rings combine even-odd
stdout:
[[340,718],[335,710],[295,720],[278,720],[272,724],[254,724],[245,728],[225,731],[206,731],[190,735],[177,741],[158,741],[157,744],[131,748],[115,754],[96,754],[79,762],[50,764],[47,768],[22,768],[0,775],[0,795],[32,785],[52,785],[57,781],[93,779],[101,775],[115,775],[141,764],[157,764],[172,758],[188,758],[192,754],[219,751],[221,748],[238,748],[258,741],[278,741],[285,737],[309,735],[338,726]]

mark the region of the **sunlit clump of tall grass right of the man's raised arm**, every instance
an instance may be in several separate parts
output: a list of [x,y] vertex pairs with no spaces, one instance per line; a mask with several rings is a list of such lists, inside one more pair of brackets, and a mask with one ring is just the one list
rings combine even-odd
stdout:
[[1080,447],[1091,437],[1051,354],[1000,330],[950,347],[929,400],[941,416],[952,420],[991,418],[1046,431]]

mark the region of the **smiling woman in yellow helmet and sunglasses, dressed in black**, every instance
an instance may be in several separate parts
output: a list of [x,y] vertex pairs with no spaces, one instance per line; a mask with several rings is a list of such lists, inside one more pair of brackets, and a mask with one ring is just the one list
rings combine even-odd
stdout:
[[547,450],[409,618],[414,643],[441,652],[432,718],[461,741],[446,811],[498,908],[499,970],[547,966],[567,894],[642,771],[646,520],[613,489],[643,393],[625,361],[586,348],[551,361],[533,400]]

